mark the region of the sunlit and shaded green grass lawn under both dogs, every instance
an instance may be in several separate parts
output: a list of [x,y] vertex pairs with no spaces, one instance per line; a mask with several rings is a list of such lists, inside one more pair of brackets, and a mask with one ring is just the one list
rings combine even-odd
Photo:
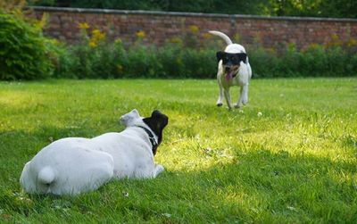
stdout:
[[[357,222],[357,79],[253,79],[243,110],[217,96],[215,80],[0,82],[0,222]],[[21,192],[51,140],[120,131],[134,108],[170,117],[158,178]]]

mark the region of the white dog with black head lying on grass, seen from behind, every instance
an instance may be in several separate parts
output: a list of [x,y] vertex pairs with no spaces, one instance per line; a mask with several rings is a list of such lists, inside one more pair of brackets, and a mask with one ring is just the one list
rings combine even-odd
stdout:
[[164,170],[154,154],[168,120],[158,111],[142,118],[133,110],[121,116],[126,129],[120,133],[54,141],[26,163],[21,186],[28,193],[76,195],[113,178],[155,178]]

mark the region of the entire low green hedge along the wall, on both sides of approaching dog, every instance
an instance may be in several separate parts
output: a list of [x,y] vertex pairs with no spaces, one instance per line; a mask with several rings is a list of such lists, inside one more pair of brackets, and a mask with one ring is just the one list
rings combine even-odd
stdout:
[[[214,79],[215,53],[220,48],[167,44],[125,49],[121,44],[106,44],[97,48],[71,46],[67,50],[71,59],[64,57],[62,64],[75,62],[75,66],[66,66],[70,70],[56,72],[56,77]],[[340,46],[311,46],[302,51],[293,47],[282,53],[252,47],[248,55],[255,78],[357,76],[357,54]]]

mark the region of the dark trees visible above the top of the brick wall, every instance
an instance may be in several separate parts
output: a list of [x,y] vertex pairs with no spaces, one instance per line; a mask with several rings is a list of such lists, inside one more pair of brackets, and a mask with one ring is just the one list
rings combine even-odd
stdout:
[[30,4],[120,10],[357,18],[356,0],[31,0]]

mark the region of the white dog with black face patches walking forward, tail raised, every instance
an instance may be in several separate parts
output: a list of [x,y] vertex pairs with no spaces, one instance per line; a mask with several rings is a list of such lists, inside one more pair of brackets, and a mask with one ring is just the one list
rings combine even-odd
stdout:
[[233,44],[230,38],[220,31],[209,31],[212,35],[221,37],[227,44],[224,52],[217,52],[218,71],[217,81],[220,87],[220,95],[217,105],[223,104],[223,94],[228,104],[228,109],[232,108],[229,87],[240,86],[240,96],[234,107],[239,108],[242,104],[248,103],[248,85],[252,78],[252,69],[245,53],[245,47]]

